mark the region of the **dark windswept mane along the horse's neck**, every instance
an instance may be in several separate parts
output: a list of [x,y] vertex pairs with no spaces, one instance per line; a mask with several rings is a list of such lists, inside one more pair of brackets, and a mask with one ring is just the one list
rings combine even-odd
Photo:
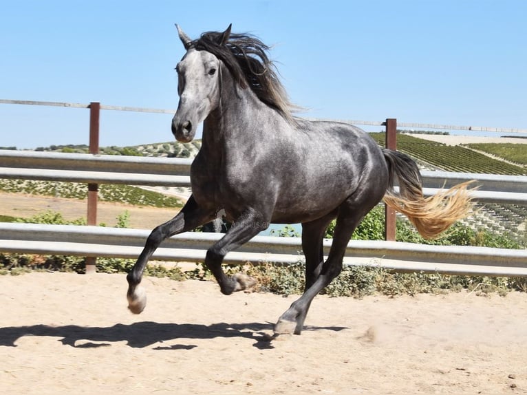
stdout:
[[294,106],[279,81],[275,65],[268,58],[268,45],[250,34],[230,34],[226,44],[219,45],[221,36],[220,32],[203,33],[200,39],[191,42],[191,47],[214,54],[240,87],[250,87],[262,102],[292,122]]

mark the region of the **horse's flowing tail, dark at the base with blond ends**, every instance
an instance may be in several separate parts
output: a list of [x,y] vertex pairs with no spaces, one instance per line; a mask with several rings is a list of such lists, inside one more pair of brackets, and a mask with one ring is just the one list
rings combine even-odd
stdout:
[[[416,162],[404,153],[383,149],[389,169],[389,188],[384,201],[406,215],[425,239],[438,237],[454,222],[467,217],[473,209],[469,185],[463,182],[433,196],[422,194],[422,179]],[[400,193],[393,191],[397,177]]]

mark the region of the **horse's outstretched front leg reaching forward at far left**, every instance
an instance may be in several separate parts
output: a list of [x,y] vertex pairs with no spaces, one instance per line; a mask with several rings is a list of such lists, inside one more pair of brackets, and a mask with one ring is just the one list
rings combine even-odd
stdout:
[[150,257],[160,246],[163,240],[168,239],[178,233],[191,231],[193,228],[209,222],[214,217],[214,211],[198,206],[193,195],[189,197],[183,209],[168,222],[161,224],[150,233],[144,248],[139,255],[136,264],[127,275],[128,281],[128,308],[131,312],[139,314],[147,306],[147,295],[144,289],[139,286],[142,273]]

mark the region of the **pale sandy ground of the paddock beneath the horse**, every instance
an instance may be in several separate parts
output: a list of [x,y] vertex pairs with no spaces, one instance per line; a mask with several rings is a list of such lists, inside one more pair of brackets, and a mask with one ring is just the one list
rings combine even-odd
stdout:
[[295,297],[213,282],[0,276],[2,394],[525,394],[527,294],[317,297],[300,336],[266,341]]

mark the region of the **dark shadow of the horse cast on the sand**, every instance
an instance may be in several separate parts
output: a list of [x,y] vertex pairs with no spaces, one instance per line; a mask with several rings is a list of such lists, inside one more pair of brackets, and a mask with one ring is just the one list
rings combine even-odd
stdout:
[[[109,327],[90,327],[79,325],[28,325],[0,328],[0,345],[17,347],[18,339],[24,336],[58,337],[64,345],[74,348],[98,348],[118,341],[126,341],[131,348],[145,348],[161,343],[154,350],[191,350],[193,344],[178,343],[164,346],[165,341],[178,339],[215,339],[217,337],[241,337],[255,340],[254,347],[273,348],[271,339],[264,331],[272,332],[272,323],[214,323],[201,325],[192,323],[157,323],[151,321],[136,322],[129,325],[117,323]],[[334,330],[344,327],[306,327],[304,330]],[[97,343],[94,343],[97,342]]]

